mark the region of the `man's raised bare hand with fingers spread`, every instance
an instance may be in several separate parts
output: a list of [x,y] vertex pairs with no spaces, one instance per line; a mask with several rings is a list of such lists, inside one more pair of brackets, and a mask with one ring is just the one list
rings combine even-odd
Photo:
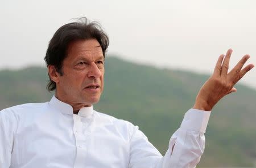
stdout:
[[234,88],[234,85],[243,77],[243,75],[254,67],[253,64],[249,64],[242,69],[247,59],[250,58],[249,55],[245,55],[228,73],[231,54],[232,49],[229,49],[225,58],[224,55],[220,55],[214,68],[213,75],[204,83],[197,94],[193,109],[211,111],[213,106],[216,105],[222,97],[237,91],[237,89]]

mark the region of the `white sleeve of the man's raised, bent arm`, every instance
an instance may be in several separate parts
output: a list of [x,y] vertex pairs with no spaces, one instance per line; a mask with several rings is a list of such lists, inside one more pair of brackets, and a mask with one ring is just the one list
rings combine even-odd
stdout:
[[130,140],[129,167],[196,167],[204,152],[204,132],[209,116],[209,111],[188,110],[180,128],[172,135],[169,148],[164,156],[148,142],[147,137],[135,126]]

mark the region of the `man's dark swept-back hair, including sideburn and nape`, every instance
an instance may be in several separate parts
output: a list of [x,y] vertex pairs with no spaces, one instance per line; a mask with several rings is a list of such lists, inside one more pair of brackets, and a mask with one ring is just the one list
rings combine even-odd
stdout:
[[[49,41],[44,61],[46,61],[47,66],[55,66],[56,71],[63,75],[61,68],[63,60],[67,57],[68,45],[73,41],[89,39],[96,39],[100,43],[105,58],[106,49],[109,46],[108,36],[97,22],[89,23],[86,18],[80,18],[77,22],[65,24],[57,29]],[[53,91],[55,89],[56,83],[49,77],[47,90]]]

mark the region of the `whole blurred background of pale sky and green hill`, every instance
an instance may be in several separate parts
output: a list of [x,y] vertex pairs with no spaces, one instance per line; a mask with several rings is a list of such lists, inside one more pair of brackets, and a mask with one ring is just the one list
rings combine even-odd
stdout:
[[[256,64],[256,1],[1,1],[0,110],[48,101],[43,61],[61,25],[86,16],[110,38],[98,111],[137,124],[166,152],[220,54]],[[247,63],[248,64],[248,63]],[[213,109],[199,167],[256,163],[256,71]]]

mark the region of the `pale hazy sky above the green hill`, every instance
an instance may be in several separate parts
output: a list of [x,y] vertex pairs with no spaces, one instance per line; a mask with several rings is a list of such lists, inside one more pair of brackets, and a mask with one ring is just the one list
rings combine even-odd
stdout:
[[[256,1],[1,1],[0,69],[45,65],[48,41],[61,25],[86,16],[110,37],[108,53],[158,67],[211,73],[234,50],[256,64]],[[256,68],[243,82],[256,88]]]

